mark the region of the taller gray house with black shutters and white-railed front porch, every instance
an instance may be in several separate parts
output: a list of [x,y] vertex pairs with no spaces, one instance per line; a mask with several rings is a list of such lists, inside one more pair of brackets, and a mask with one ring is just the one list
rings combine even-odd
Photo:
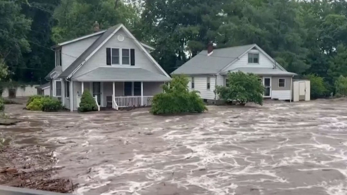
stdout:
[[50,94],[71,112],[89,90],[98,107],[150,106],[170,76],[123,24],[58,43],[55,68],[46,76]]

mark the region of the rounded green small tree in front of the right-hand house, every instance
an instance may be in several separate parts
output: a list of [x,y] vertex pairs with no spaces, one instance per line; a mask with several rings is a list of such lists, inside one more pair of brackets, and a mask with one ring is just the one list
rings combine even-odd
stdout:
[[228,73],[228,86],[216,86],[215,92],[220,99],[240,105],[253,102],[263,105],[264,86],[259,82],[259,77],[254,74],[245,74],[241,71]]

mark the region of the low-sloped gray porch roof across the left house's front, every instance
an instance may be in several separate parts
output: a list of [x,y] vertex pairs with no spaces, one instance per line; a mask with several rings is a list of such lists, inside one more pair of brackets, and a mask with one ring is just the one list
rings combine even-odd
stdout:
[[99,67],[72,78],[74,81],[169,81],[171,78],[142,68]]

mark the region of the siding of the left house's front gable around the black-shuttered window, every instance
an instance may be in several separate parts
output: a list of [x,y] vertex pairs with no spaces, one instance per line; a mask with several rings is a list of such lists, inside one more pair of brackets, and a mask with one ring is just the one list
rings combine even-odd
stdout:
[[[118,41],[118,35],[123,35],[124,40]],[[152,71],[154,73],[158,73],[164,75],[159,68],[152,62],[149,57],[145,54],[145,52],[138,47],[135,43],[135,40],[127,37],[126,33],[120,29],[117,31],[101,48],[98,52],[96,52],[91,59],[89,59],[75,74],[73,77],[77,77],[81,74],[89,72],[91,70],[96,69],[100,66],[106,65],[106,48],[134,48],[135,49],[135,66],[141,67],[143,69]],[[119,66],[119,65],[118,65]],[[125,65],[124,65],[125,66]],[[121,67],[124,67],[121,66]],[[130,67],[127,65],[126,67]]]

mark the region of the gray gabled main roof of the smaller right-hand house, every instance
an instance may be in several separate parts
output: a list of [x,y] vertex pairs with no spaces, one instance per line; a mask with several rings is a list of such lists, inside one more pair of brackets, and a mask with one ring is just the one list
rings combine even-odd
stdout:
[[171,74],[219,74],[223,73],[225,69],[234,64],[243,55],[245,55],[252,48],[257,48],[262,52],[270,61],[276,64],[277,68],[285,71],[285,69],[275,62],[262,48],[256,44],[248,44],[234,47],[226,47],[214,49],[211,55],[207,55],[207,51],[203,50],[181,67],[176,69]]

